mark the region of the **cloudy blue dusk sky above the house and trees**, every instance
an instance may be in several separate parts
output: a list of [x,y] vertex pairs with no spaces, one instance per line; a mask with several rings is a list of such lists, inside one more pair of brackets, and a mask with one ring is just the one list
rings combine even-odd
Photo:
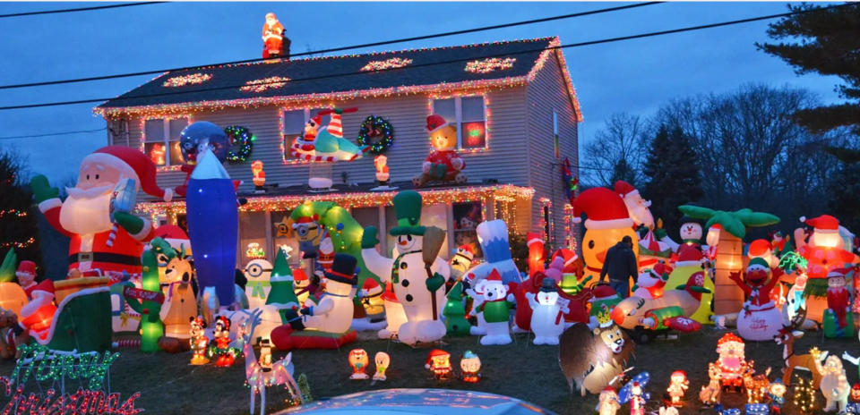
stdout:
[[[622,3],[173,3],[0,19],[0,84],[62,80],[212,64],[260,56],[260,28],[276,13],[294,53],[578,13]],[[0,3],[0,14],[92,3]],[[505,30],[394,44],[374,50],[439,47],[559,36],[563,44],[785,13],[785,3],[669,3]],[[585,122],[582,147],[614,112],[648,115],[675,97],[724,92],[747,82],[785,83],[838,97],[839,80],[796,76],[756,50],[767,21],[727,28],[565,49]],[[115,97],[155,75],[53,87],[0,90],[0,106]],[[0,111],[0,137],[95,130],[98,104]],[[52,181],[76,172],[81,158],[107,143],[105,131],[0,140],[29,157]]]

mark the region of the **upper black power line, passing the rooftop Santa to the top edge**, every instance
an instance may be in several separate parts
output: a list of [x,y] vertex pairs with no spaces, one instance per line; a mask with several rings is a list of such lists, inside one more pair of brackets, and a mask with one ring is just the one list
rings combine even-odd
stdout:
[[[505,29],[505,28],[512,28],[512,27],[516,27],[516,26],[523,26],[523,25],[527,25],[527,24],[543,23],[546,21],[558,21],[558,20],[563,20],[563,19],[572,19],[574,17],[588,16],[591,14],[618,12],[621,10],[634,9],[637,7],[644,7],[644,6],[649,6],[649,5],[654,5],[654,4],[662,4],[662,3],[666,3],[666,2],[649,2],[649,3],[629,4],[629,5],[618,6],[618,7],[610,7],[607,9],[593,10],[590,12],[563,14],[563,15],[559,15],[559,16],[546,17],[543,19],[534,19],[534,20],[530,20],[530,21],[516,21],[513,23],[497,24],[495,26],[485,26],[483,28],[449,31],[449,32],[445,32],[445,33],[437,33],[434,35],[417,36],[414,38],[400,38],[400,39],[394,39],[394,40],[385,40],[382,42],[366,43],[364,45],[355,45],[355,46],[351,46],[351,47],[334,47],[331,49],[323,49],[323,50],[318,50],[315,52],[304,52],[304,53],[300,53],[300,54],[292,54],[291,56],[297,57],[297,56],[306,56],[306,55],[328,54],[331,52],[341,52],[344,50],[357,49],[357,48],[361,48],[361,47],[379,47],[379,46],[384,46],[384,45],[391,45],[394,43],[412,42],[412,41],[416,41],[416,40],[426,40],[426,39],[430,39],[430,38],[444,38],[444,37],[454,36],[454,35],[475,33],[478,31]],[[94,76],[94,77],[90,77],[90,78],[78,78],[78,79],[73,79],[73,80],[47,80],[45,82],[31,82],[31,83],[22,83],[22,84],[17,84],[17,85],[0,85],[0,89],[42,87],[42,86],[46,86],[46,85],[60,85],[60,84],[65,84],[65,83],[89,82],[92,80],[115,80],[117,78],[128,78],[128,77],[142,76],[142,75],[154,75],[154,74],[159,74],[159,73],[164,73],[164,72],[193,71],[193,70],[208,68],[211,66],[223,66],[223,65],[228,65],[228,64],[251,64],[254,62],[262,62],[262,61],[266,61],[266,60],[268,60],[268,59],[266,59],[266,58],[255,58],[255,59],[246,59],[244,61],[224,62],[221,64],[205,64],[205,65],[200,65],[200,66],[185,66],[185,67],[181,67],[181,68],[161,69],[158,71],[118,73],[115,75]]]

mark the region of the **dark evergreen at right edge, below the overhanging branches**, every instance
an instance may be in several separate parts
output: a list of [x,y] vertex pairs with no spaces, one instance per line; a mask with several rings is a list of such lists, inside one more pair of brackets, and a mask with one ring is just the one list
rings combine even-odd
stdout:
[[860,229],[860,164],[840,163],[827,185],[827,213],[847,229]]

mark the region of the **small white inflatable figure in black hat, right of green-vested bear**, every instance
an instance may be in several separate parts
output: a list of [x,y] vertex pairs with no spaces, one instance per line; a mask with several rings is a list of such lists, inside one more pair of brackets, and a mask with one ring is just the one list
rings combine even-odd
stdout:
[[564,331],[564,313],[569,310],[566,301],[558,297],[552,278],[544,278],[540,292],[529,294],[529,306],[535,344],[558,344],[558,336]]

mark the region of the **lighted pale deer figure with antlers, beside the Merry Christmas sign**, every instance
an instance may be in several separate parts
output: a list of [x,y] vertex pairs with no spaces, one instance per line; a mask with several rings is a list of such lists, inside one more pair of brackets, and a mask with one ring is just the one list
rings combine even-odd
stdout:
[[[251,386],[251,414],[254,415],[254,404],[256,403],[256,394],[260,394],[260,415],[266,415],[266,388],[275,385],[284,385],[290,397],[299,396],[298,385],[293,379],[293,353],[288,353],[287,357],[271,361],[271,351],[268,353],[261,350],[261,360],[257,360],[254,354],[254,342],[252,335],[254,328],[260,324],[260,315],[262,309],[256,309],[251,314],[251,317],[245,320],[245,328],[242,330],[242,340],[245,345],[242,347],[245,352],[245,377],[248,385]],[[265,349],[265,346],[263,346]]]

